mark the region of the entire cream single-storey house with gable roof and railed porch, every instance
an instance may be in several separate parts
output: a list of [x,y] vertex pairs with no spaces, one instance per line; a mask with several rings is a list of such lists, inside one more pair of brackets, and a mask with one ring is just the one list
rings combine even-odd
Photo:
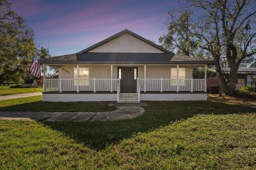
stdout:
[[123,30],[76,54],[39,60],[58,67],[58,79],[45,79],[43,101],[206,100],[205,79],[193,68],[213,61],[173,54]]

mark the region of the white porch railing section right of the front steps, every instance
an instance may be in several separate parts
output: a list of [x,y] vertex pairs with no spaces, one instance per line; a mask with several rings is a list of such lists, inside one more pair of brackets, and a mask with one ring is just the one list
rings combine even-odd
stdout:
[[[179,83],[177,83],[179,82]],[[205,91],[205,79],[138,79],[141,91]],[[137,89],[138,90],[138,89]]]

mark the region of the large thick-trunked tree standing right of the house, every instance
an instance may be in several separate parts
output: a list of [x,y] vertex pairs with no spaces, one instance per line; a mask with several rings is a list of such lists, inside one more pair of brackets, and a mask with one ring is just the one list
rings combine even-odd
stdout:
[[[189,38],[197,42],[197,48],[202,49],[204,54],[210,53],[212,60],[216,61],[215,69],[223,92],[235,94],[239,66],[255,62],[255,1],[193,0],[188,4],[189,10],[194,13],[188,18]],[[180,36],[172,38],[182,43]],[[225,67],[230,67],[230,74],[225,73]]]

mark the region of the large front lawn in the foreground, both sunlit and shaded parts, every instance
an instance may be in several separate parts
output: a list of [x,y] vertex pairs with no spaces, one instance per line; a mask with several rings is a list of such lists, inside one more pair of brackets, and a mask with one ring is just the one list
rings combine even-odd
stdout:
[[0,168],[256,168],[255,103],[147,104],[142,116],[125,121],[2,120]]

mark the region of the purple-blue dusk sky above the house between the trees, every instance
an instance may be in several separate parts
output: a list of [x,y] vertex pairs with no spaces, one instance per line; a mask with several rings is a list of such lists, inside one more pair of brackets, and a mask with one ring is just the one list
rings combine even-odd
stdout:
[[77,53],[124,29],[155,41],[166,33],[167,12],[179,7],[171,0],[11,0],[26,19],[35,42],[52,56]]

